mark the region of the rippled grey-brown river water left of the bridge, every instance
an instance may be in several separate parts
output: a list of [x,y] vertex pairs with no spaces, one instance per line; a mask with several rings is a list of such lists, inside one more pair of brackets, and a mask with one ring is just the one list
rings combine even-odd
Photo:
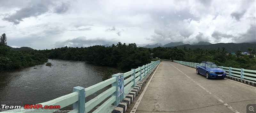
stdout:
[[[87,88],[101,82],[107,69],[113,69],[115,73],[122,72],[116,68],[80,61],[49,59],[48,62],[53,66],[44,63],[0,73],[0,104],[24,106],[47,102],[72,93],[73,87]],[[86,101],[107,88],[86,97]],[[72,110],[72,105],[61,110]]]

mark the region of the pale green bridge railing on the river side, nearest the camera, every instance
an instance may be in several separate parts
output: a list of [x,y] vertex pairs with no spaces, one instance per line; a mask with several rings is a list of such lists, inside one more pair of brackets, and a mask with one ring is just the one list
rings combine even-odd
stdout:
[[[148,63],[146,65],[143,65],[142,67],[138,67],[137,69],[132,69],[131,71],[128,71],[126,73],[118,73],[115,75],[112,75],[111,78],[102,81],[100,83],[97,83],[95,85],[92,85],[88,88],[83,88],[80,86],[73,88],[73,93],[70,93],[68,95],[60,96],[56,99],[44,102],[44,103],[38,103],[37,105],[41,104],[42,107],[44,106],[60,106],[56,109],[43,109],[42,107],[32,107],[32,109],[14,109],[14,110],[7,110],[0,113],[27,113],[27,112],[45,112],[45,113],[53,113],[61,108],[64,108],[68,105],[73,104],[73,110],[70,111],[70,113],[82,113],[82,112],[89,112],[94,107],[96,107],[98,104],[103,102],[105,99],[108,98],[103,104],[101,104],[96,110],[92,111],[95,113],[104,112],[108,108],[113,108],[118,105],[121,100],[124,99],[124,94],[127,95],[135,86],[137,83],[141,81],[142,78],[144,78],[150,70],[152,70],[158,63],[158,61],[151,61],[151,63]],[[124,80],[124,78],[126,79]],[[128,78],[127,78],[128,77]],[[85,98],[89,95],[92,95],[93,93],[105,88],[106,86],[111,84],[111,88],[107,89],[106,91],[102,92],[95,98],[91,99],[90,101],[85,103]],[[121,84],[121,87],[120,87]],[[122,87],[123,86],[123,87]],[[124,87],[125,86],[125,87]],[[121,89],[120,89],[121,88]],[[112,105],[114,104],[114,105]],[[49,107],[50,108],[50,107]],[[111,112],[111,111],[110,111]]]

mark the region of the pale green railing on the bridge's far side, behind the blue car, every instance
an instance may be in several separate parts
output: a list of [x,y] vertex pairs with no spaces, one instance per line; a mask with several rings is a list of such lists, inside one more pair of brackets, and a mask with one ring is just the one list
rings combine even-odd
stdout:
[[[196,65],[199,64],[199,63],[191,63],[191,62],[184,62],[184,61],[177,61],[177,60],[173,60],[173,62],[180,63],[182,65],[186,65],[194,68],[196,68]],[[225,70],[228,76],[233,76],[240,79],[256,82],[256,70],[246,70],[243,68],[238,69],[238,68],[224,67],[224,66],[220,66],[220,68]]]

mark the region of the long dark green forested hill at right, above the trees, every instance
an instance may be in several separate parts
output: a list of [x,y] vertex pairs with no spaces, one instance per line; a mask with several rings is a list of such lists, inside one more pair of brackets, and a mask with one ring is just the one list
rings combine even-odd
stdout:
[[228,53],[235,53],[237,50],[241,50],[242,52],[249,52],[247,48],[252,48],[256,49],[256,44],[251,44],[251,43],[215,43],[215,44],[210,44],[210,45],[190,45],[190,44],[185,44],[185,45],[179,45],[176,46],[178,48],[190,48],[192,50],[201,48],[201,49],[207,49],[207,50],[217,50],[218,47],[222,49],[222,47],[225,47]]

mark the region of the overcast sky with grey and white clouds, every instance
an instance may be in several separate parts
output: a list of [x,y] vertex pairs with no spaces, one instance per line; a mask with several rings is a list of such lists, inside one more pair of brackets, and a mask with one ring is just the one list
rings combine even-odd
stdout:
[[256,42],[255,0],[1,0],[7,45]]

